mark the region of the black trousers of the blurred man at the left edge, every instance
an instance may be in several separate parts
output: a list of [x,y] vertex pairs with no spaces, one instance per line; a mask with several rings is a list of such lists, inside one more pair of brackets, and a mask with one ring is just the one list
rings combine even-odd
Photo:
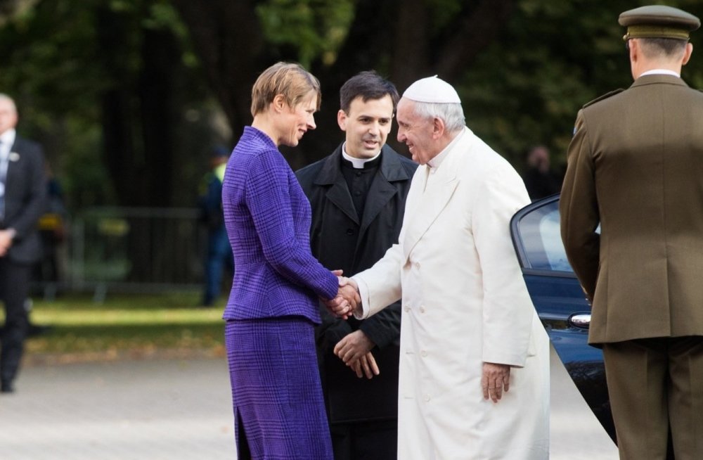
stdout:
[[5,324],[0,330],[0,380],[3,382],[14,381],[20,368],[29,328],[25,300],[31,273],[30,264],[0,257],[0,300],[5,308]]

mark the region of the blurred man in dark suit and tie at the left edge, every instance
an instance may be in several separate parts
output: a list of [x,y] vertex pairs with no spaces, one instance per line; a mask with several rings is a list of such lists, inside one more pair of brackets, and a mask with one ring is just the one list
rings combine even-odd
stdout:
[[41,147],[15,132],[17,109],[0,94],[0,391],[13,392],[27,328],[32,264],[41,256],[37,222],[45,210],[46,182]]

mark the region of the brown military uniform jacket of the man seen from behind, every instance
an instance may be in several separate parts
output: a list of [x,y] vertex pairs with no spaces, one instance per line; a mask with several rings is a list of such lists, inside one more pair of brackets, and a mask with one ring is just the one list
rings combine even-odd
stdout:
[[703,335],[703,93],[646,75],[584,106],[560,212],[591,343]]

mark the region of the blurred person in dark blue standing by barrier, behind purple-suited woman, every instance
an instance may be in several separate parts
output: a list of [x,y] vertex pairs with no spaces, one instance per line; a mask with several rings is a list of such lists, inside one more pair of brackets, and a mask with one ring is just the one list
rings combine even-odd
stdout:
[[233,273],[234,269],[232,248],[227,239],[222,212],[222,181],[228,159],[229,151],[226,148],[213,148],[210,154],[210,170],[203,177],[201,184],[200,222],[207,229],[203,307],[211,307],[219,298],[223,275]]

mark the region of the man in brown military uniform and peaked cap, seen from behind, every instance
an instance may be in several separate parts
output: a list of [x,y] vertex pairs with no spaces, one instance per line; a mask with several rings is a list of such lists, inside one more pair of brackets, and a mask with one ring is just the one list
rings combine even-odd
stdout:
[[[579,111],[560,211],[593,302],[621,459],[703,459],[703,93],[681,79],[700,21],[622,13],[635,82]],[[597,227],[600,224],[600,234]]]

